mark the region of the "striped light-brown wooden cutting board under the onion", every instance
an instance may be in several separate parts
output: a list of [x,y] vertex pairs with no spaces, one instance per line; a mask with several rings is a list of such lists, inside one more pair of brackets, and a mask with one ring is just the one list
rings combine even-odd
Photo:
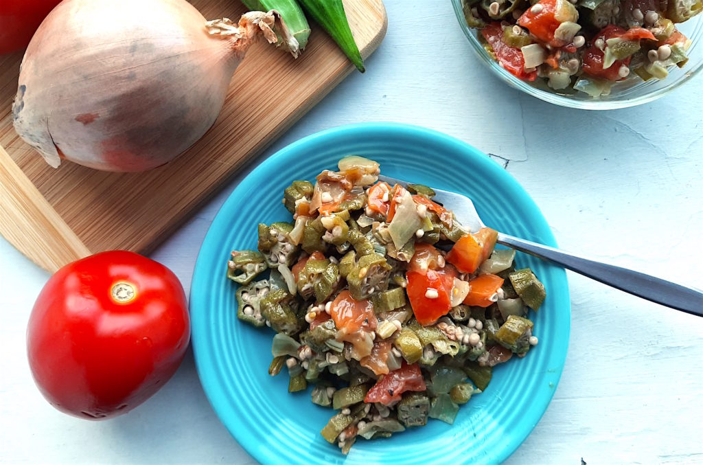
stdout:
[[[191,3],[208,19],[245,11],[238,0]],[[382,0],[344,0],[344,8],[366,58],[386,32]],[[209,132],[172,163],[143,173],[98,172],[69,162],[49,167],[12,127],[22,53],[0,56],[0,234],[49,272],[103,250],[149,253],[356,72],[318,25],[311,22],[311,28],[297,60],[268,44],[252,46]]]

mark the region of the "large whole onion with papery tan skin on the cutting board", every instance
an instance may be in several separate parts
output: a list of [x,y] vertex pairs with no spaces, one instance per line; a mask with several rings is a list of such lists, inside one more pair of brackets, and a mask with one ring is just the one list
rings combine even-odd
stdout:
[[164,165],[212,126],[252,40],[275,41],[273,18],[247,13],[213,35],[186,0],[65,0],[22,60],[15,130],[53,167]]

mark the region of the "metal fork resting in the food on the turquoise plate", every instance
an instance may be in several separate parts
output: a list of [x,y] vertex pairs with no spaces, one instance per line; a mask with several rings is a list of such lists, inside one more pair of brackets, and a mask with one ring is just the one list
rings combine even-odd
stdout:
[[[392,177],[380,176],[378,179],[391,185],[400,184],[404,187],[408,185],[406,181],[400,181]],[[434,189],[434,187],[432,189],[437,194],[432,200],[452,210],[462,226],[467,227],[471,232],[478,231],[485,226],[470,198],[458,193]],[[595,281],[600,281],[620,291],[703,317],[703,292],[695,288],[681,286],[681,284],[672,283],[631,269],[589,260],[564,250],[525,241],[501,232],[498,232],[498,243],[529,253],[542,260],[553,262],[556,265],[572,270],[572,272],[583,274],[583,276],[588,276],[591,279],[595,279]]]

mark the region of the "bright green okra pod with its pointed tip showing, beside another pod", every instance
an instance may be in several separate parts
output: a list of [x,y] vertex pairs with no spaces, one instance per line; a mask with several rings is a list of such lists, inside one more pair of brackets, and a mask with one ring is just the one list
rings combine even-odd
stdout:
[[352,30],[349,29],[347,13],[344,13],[342,0],[298,0],[304,11],[323,27],[330,37],[337,42],[347,58],[356,69],[365,71],[359,47],[354,42]]

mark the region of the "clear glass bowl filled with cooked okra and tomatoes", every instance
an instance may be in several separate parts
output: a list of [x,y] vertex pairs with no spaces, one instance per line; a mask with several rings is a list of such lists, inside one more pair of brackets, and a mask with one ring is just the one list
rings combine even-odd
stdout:
[[510,86],[588,110],[647,103],[703,68],[701,0],[452,0]]

